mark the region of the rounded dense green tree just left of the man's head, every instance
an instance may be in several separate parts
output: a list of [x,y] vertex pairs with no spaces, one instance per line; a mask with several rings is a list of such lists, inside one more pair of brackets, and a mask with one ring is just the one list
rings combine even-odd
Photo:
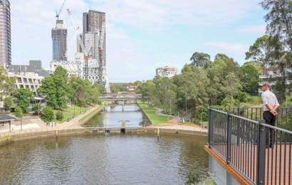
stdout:
[[242,65],[240,70],[242,90],[246,93],[256,93],[259,88],[259,71],[249,63]]

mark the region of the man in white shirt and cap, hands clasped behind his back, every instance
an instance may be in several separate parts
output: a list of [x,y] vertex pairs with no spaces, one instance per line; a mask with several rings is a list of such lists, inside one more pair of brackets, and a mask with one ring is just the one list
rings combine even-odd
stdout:
[[[268,83],[265,83],[261,90],[264,92],[261,93],[261,98],[263,100],[264,104],[264,120],[266,121],[267,125],[275,126],[276,116],[278,115],[278,112],[276,111],[278,107],[280,106],[277,100],[276,95],[274,95],[271,91],[271,86],[268,85]],[[266,146],[267,147],[273,147],[273,137],[274,137],[274,131],[271,128],[267,129],[266,134]]]

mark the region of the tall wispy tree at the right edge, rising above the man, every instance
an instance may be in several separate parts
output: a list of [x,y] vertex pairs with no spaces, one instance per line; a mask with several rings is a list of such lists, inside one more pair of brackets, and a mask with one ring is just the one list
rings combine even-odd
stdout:
[[[281,42],[282,47],[277,47],[277,43],[272,43],[273,53],[276,60],[271,61],[270,65],[280,71],[285,78],[276,79],[276,93],[286,97],[292,92],[292,84],[286,80],[292,80],[292,73],[286,68],[292,67],[292,2],[288,0],[273,1],[264,0],[261,2],[264,10],[268,11],[265,21],[268,23],[266,31],[269,36]],[[280,89],[279,89],[280,88]]]

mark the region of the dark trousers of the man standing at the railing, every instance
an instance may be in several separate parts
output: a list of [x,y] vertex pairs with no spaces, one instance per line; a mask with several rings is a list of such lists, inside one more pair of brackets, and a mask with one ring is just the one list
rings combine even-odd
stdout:
[[[275,126],[276,116],[271,112],[265,111],[263,114],[266,125]],[[273,147],[275,131],[271,128],[266,128],[266,147]]]

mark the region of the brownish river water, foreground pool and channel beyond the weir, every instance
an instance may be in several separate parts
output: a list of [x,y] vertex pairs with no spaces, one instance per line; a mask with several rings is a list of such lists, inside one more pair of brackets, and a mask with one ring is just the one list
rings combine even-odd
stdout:
[[[142,126],[140,110],[124,108],[107,108],[100,123],[113,127],[127,119],[131,127]],[[0,148],[0,184],[184,184],[193,176],[207,177],[206,143],[202,136],[162,135],[157,140],[149,134],[15,142]]]

